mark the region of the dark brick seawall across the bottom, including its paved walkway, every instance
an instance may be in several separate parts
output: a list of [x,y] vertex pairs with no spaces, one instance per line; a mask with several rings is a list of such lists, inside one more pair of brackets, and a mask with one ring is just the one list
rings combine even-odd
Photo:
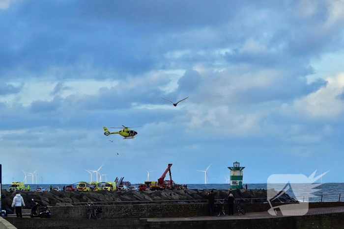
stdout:
[[206,216],[207,204],[135,204],[102,207],[104,212],[100,220],[86,219],[87,206],[51,207],[51,219],[7,217],[6,220],[18,229],[344,228],[344,202],[309,203],[309,212],[303,216],[271,216],[267,212],[269,204],[244,204],[248,212],[245,215],[220,217]]

